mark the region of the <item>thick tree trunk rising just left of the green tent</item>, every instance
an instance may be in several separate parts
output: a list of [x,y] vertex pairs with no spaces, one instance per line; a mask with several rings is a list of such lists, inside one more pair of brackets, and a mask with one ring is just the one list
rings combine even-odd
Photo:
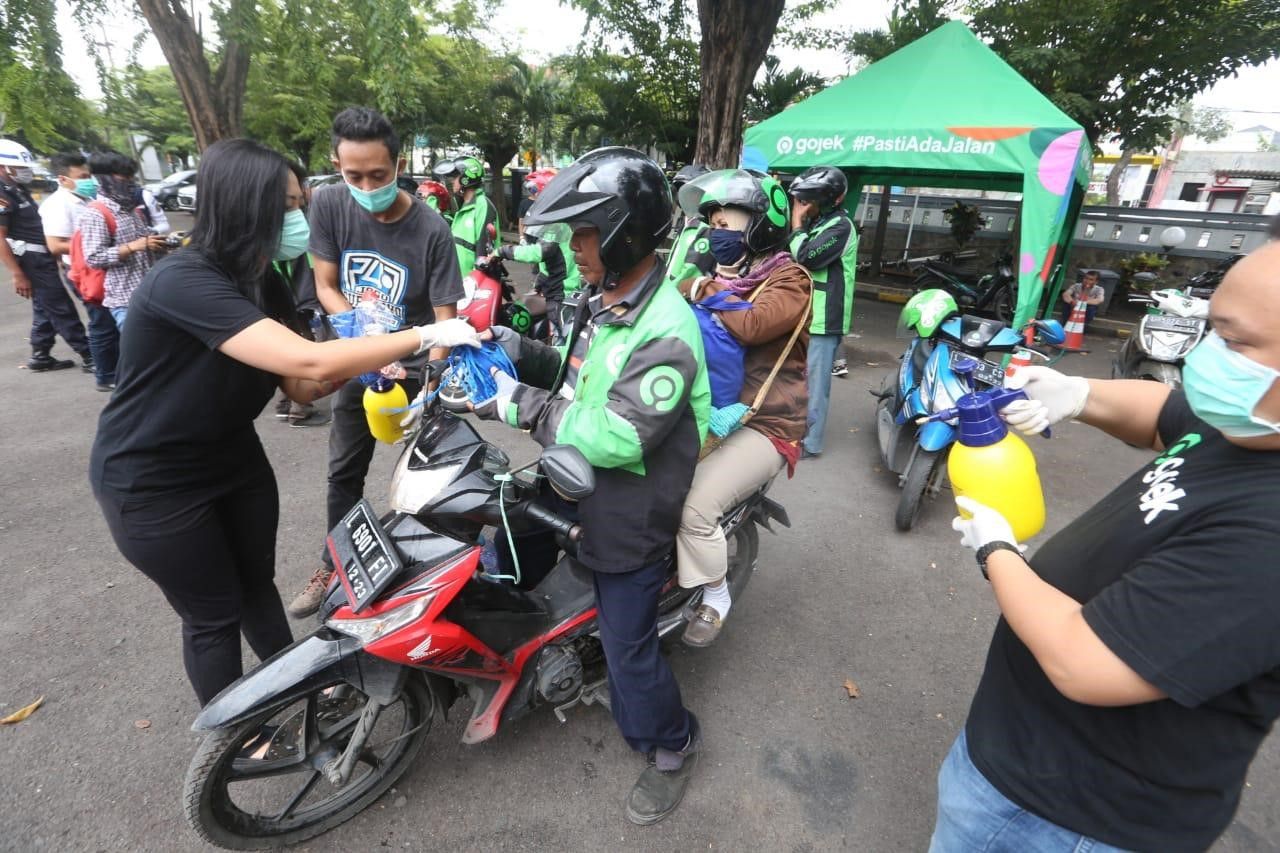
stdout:
[[701,99],[694,163],[736,167],[742,106],[773,41],[785,0],[698,0],[701,23]]

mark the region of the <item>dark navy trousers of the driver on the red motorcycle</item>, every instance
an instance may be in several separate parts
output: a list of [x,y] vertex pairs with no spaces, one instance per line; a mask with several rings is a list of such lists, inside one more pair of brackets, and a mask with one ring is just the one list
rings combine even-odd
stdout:
[[[554,512],[572,517],[568,505],[554,500]],[[511,574],[506,535],[497,537],[498,562]],[[538,532],[516,537],[521,587],[531,588],[558,558],[556,538]],[[658,598],[669,575],[669,564],[653,562],[635,571],[593,571],[595,607],[609,675],[613,721],[636,752],[658,747],[680,751],[689,743],[692,715],[685,710],[680,685],[658,644]]]

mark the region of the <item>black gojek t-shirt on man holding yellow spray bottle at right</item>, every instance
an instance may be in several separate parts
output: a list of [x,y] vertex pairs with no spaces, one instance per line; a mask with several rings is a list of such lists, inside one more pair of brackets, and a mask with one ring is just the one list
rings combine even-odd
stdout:
[[1030,564],[1170,698],[1071,702],[1000,620],[965,730],[983,775],[1046,820],[1124,848],[1202,850],[1280,715],[1280,452],[1231,444],[1180,392],[1158,428],[1167,450]]

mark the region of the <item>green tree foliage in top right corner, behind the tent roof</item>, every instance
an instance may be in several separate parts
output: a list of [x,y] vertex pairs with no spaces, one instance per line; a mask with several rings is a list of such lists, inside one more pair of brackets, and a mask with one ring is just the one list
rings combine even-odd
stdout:
[[1171,105],[1280,55],[1280,0],[899,0],[886,28],[833,41],[874,61],[961,12],[1094,145],[1149,149]]

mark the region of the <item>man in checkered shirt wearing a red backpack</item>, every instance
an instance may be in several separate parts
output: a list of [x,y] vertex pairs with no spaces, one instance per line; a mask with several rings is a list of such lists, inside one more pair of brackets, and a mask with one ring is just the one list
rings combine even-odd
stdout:
[[102,305],[123,333],[129,297],[151,269],[155,255],[164,251],[165,238],[151,233],[145,209],[140,210],[133,160],[105,151],[91,156],[88,168],[100,191],[97,201],[86,205],[79,219],[84,263],[106,270]]

